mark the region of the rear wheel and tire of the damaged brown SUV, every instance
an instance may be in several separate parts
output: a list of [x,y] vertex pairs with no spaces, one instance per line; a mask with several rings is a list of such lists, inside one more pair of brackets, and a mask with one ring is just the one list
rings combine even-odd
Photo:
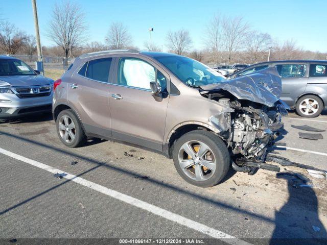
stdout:
[[70,148],[81,146],[87,140],[80,120],[71,109],[63,110],[59,113],[56,120],[56,128],[61,142]]

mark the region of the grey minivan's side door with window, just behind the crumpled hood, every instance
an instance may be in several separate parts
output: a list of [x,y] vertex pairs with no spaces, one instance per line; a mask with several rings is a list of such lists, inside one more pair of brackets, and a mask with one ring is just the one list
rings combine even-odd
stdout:
[[295,106],[295,102],[302,94],[308,83],[308,65],[306,63],[276,64],[282,77],[281,100],[288,106]]

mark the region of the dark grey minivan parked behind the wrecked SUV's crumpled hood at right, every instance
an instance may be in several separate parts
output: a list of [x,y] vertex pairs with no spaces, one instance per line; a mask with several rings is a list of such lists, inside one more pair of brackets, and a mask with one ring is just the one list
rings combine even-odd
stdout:
[[281,100],[303,117],[319,116],[327,109],[327,61],[285,60],[254,64],[230,76],[237,78],[276,66],[282,77]]

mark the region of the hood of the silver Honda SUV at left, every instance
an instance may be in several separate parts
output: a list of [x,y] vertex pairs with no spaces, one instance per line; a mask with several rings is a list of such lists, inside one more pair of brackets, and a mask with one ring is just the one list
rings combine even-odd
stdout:
[[41,75],[35,76],[0,76],[0,85],[12,87],[39,86],[52,84],[54,80]]

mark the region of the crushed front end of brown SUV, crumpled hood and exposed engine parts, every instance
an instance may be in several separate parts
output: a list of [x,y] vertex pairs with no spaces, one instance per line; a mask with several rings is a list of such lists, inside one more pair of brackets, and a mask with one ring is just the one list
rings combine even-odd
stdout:
[[282,116],[288,108],[278,99],[281,80],[275,68],[207,86],[200,92],[226,108],[209,121],[232,153],[232,167],[249,173],[258,167],[278,171],[278,167],[265,163],[267,148],[283,130]]

